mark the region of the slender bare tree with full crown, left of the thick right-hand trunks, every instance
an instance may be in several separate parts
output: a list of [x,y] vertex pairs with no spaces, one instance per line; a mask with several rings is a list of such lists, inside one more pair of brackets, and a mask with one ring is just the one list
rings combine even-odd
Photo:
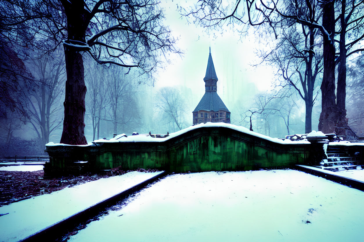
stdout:
[[[316,19],[315,13],[310,18]],[[309,133],[312,108],[318,95],[315,91],[318,74],[323,69],[322,38],[315,28],[297,22],[293,25],[296,28],[282,28],[276,47],[270,52],[263,50],[261,57],[277,67],[284,80],[280,85],[293,87],[305,102],[305,132]]]

